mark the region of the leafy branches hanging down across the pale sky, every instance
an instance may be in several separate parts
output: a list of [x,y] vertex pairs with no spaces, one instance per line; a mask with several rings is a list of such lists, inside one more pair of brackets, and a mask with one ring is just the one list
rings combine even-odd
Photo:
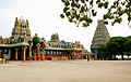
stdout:
[[108,19],[111,25],[122,22],[122,16],[128,16],[128,22],[131,22],[131,0],[61,0],[63,2],[63,13],[60,14],[61,18],[67,17],[70,23],[75,23],[76,26],[82,24],[83,27],[90,26],[93,22],[93,16],[97,16],[99,9],[106,9],[108,12],[103,15],[105,24]]

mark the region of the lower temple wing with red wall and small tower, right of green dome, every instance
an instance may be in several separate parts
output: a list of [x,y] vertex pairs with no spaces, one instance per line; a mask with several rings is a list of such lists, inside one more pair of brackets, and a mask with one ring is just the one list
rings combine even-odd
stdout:
[[50,41],[47,42],[46,46],[46,58],[51,59],[78,59],[90,54],[85,52],[83,44],[80,41],[66,42],[64,40],[59,40],[58,33],[52,33]]

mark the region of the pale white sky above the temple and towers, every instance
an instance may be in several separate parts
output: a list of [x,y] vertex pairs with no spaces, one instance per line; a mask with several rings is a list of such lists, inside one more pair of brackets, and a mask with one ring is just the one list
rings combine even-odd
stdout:
[[[98,10],[97,17],[94,17],[90,27],[76,27],[67,18],[60,18],[63,3],[61,0],[0,0],[0,36],[11,37],[14,28],[15,17],[28,19],[32,37],[37,33],[40,38],[50,40],[52,33],[58,32],[59,39],[66,42],[80,41],[87,51],[90,50],[97,19],[103,18],[106,10]],[[110,37],[127,37],[131,35],[127,17],[123,16],[121,24],[107,25]]]

